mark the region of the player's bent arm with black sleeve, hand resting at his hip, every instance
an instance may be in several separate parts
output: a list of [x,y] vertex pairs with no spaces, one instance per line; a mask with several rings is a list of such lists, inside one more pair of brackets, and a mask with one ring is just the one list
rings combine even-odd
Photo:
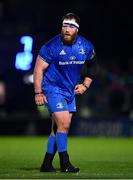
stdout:
[[91,85],[92,81],[96,78],[97,72],[97,60],[96,53],[93,51],[92,57],[90,60],[85,62],[85,78],[82,84],[78,84],[75,87],[76,94],[83,94]]

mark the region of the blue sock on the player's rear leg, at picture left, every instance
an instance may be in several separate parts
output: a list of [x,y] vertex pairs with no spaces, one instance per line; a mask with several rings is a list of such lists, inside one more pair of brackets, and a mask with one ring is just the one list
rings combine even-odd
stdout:
[[47,153],[54,154],[56,152],[56,138],[50,134],[48,143],[47,143]]

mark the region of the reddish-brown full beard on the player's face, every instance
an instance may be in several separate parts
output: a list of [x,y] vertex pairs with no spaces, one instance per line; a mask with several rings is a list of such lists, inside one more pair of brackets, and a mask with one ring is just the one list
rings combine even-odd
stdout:
[[61,32],[62,35],[62,39],[63,42],[65,44],[71,45],[74,43],[74,41],[76,40],[76,36],[77,36],[77,32],[73,33],[73,34],[69,34],[69,33],[64,33],[63,31]]

